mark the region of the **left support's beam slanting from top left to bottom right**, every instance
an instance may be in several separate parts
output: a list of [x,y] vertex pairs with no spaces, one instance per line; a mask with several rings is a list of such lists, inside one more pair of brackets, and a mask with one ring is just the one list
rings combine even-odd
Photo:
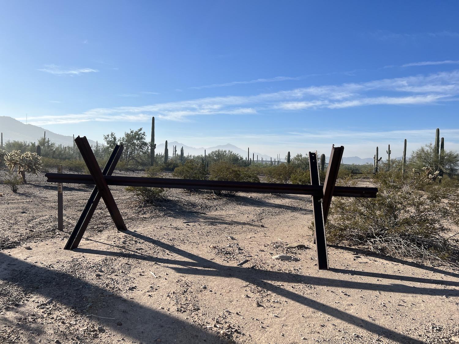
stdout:
[[123,217],[119,212],[118,205],[116,205],[116,202],[113,199],[113,195],[108,188],[107,182],[104,178],[104,175],[102,174],[97,160],[95,160],[94,153],[91,150],[91,146],[86,139],[86,136],[83,136],[82,138],[78,136],[75,139],[75,143],[77,144],[81,156],[83,157],[83,160],[88,167],[88,170],[94,180],[95,186],[102,196],[102,200],[105,202],[110,216],[112,216],[113,222],[115,222],[115,226],[119,231],[126,230],[126,224],[124,223]]

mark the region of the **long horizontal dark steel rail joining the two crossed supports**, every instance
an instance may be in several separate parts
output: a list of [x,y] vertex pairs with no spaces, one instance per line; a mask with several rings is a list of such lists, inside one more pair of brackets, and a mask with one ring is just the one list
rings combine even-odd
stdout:
[[[89,174],[46,173],[45,177],[48,178],[47,181],[50,183],[95,184],[92,176]],[[323,196],[323,186],[319,185],[125,176],[104,176],[104,178],[108,185],[118,186],[146,186],[169,189],[245,191],[269,194],[306,194],[311,196]],[[333,196],[375,198],[377,192],[377,188],[371,187],[336,186],[333,190]]]

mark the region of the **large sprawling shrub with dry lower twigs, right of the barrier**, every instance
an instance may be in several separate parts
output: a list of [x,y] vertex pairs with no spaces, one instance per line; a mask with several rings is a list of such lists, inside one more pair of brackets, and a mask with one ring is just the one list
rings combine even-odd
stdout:
[[[349,178],[345,183],[356,182]],[[428,181],[413,171],[404,176],[395,170],[379,172],[373,183],[378,188],[375,199],[333,198],[326,226],[330,243],[422,259],[456,255],[444,236],[459,218],[453,193],[444,188],[420,191]]]

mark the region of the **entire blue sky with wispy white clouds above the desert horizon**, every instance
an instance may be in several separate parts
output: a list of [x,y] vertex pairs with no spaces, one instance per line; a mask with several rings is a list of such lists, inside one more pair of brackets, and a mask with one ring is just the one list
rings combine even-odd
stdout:
[[[441,4],[441,5],[440,5]],[[275,156],[459,149],[459,3],[0,1],[0,115]]]

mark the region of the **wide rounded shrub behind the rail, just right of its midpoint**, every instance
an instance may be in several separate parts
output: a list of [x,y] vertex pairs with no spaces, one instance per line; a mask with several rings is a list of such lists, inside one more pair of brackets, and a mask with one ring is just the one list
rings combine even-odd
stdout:
[[[213,163],[209,168],[210,180],[224,180],[229,182],[255,182],[259,183],[258,175],[249,167],[233,165],[227,161]],[[220,194],[221,191],[214,190],[214,194]],[[234,192],[229,192],[234,194]]]

